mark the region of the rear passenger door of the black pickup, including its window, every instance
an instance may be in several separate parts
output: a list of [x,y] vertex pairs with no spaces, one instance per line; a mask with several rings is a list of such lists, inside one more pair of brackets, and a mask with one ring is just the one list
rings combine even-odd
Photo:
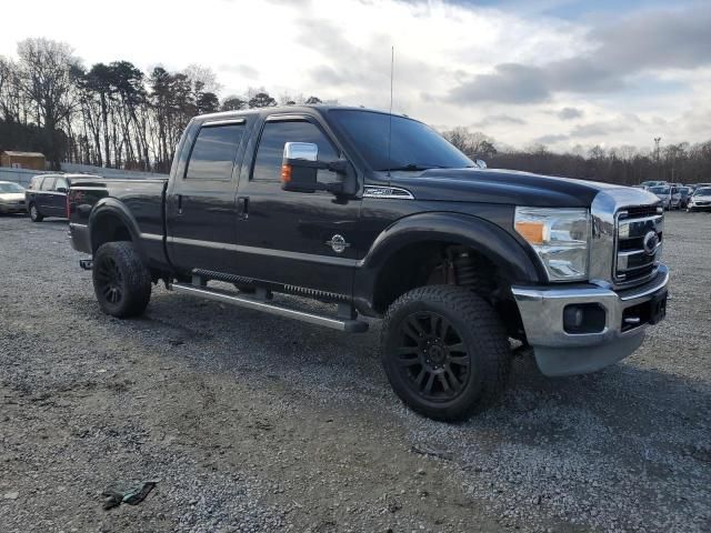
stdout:
[[172,264],[220,273],[237,270],[234,194],[247,120],[207,121],[189,132],[168,190],[168,244]]

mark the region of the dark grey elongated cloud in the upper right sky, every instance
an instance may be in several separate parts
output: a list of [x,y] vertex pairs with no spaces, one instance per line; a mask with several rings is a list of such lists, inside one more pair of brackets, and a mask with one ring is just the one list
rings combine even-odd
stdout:
[[611,92],[631,77],[661,69],[711,64],[711,4],[642,11],[588,33],[593,48],[541,66],[501,63],[470,77],[449,93],[455,103],[537,103],[558,92]]

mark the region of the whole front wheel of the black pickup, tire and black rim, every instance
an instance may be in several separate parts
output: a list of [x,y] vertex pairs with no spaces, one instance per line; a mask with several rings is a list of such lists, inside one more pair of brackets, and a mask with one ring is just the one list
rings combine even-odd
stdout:
[[388,310],[382,363],[393,390],[413,411],[448,422],[491,404],[511,363],[507,333],[481,296],[454,285],[429,285]]

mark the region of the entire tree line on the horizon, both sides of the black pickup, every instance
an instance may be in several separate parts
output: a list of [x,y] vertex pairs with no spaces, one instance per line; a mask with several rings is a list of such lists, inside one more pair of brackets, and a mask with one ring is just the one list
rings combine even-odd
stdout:
[[[53,169],[68,161],[167,172],[182,130],[197,114],[322,103],[318,97],[290,94],[278,101],[263,88],[220,99],[220,89],[204,67],[143,72],[130,61],[113,61],[86,68],[67,43],[26,39],[18,43],[17,59],[0,57],[0,150],[42,152]],[[711,181],[711,141],[554,153],[542,144],[504,148],[462,127],[443,134],[490,168],[622,184]]]

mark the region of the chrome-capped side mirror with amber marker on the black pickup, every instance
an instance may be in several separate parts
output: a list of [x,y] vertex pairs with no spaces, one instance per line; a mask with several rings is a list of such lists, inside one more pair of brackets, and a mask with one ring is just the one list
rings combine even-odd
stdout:
[[346,182],[353,181],[350,165],[346,160],[326,163],[318,160],[319,147],[311,142],[287,142],[281,165],[281,188],[291,192],[329,191],[333,194],[354,193],[344,182],[320,183],[319,170],[330,170],[346,175]]

